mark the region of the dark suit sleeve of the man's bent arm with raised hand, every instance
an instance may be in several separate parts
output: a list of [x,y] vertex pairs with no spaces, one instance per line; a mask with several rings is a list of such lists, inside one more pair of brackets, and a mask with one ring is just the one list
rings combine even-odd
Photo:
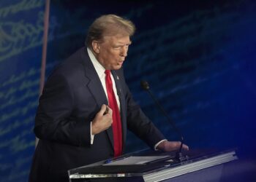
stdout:
[[90,121],[72,116],[74,95],[67,78],[53,74],[45,84],[35,119],[37,138],[75,146],[90,145]]

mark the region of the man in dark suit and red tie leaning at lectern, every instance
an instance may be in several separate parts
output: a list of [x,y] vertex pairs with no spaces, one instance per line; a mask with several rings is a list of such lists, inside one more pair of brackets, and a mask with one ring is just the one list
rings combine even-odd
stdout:
[[178,149],[181,143],[165,140],[124,80],[121,67],[134,32],[135,25],[122,17],[97,18],[86,47],[49,76],[37,109],[34,132],[39,143],[29,181],[68,181],[69,169],[118,157],[127,129],[152,149]]

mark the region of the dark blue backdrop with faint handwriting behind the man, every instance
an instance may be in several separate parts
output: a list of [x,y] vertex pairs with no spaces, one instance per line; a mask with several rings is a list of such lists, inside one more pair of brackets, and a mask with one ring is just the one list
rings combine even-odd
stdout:
[[[34,153],[45,1],[0,1],[0,181],[27,181]],[[146,79],[191,149],[256,152],[256,2],[51,1],[47,75],[83,47],[99,15],[132,20],[124,71],[135,100],[178,140],[148,94]],[[127,152],[146,148],[129,133]]]

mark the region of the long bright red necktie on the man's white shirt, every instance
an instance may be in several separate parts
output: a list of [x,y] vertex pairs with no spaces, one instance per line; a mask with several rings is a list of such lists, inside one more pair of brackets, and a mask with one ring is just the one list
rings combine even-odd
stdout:
[[108,92],[108,105],[112,109],[112,119],[113,119],[113,138],[114,138],[114,157],[118,157],[122,152],[122,132],[121,132],[121,118],[119,114],[119,109],[116,103],[116,96],[113,91],[113,84],[110,76],[110,70],[106,70],[106,87]]

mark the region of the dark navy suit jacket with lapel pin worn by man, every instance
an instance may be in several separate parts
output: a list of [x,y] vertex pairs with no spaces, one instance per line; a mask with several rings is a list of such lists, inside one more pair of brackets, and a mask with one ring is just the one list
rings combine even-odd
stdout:
[[[128,128],[154,147],[164,136],[132,99],[122,69],[112,74],[121,106],[123,146]],[[39,98],[34,127],[39,143],[29,181],[68,181],[67,170],[113,157],[112,127],[90,143],[90,122],[102,104],[108,105],[108,100],[83,47],[53,71]]]

